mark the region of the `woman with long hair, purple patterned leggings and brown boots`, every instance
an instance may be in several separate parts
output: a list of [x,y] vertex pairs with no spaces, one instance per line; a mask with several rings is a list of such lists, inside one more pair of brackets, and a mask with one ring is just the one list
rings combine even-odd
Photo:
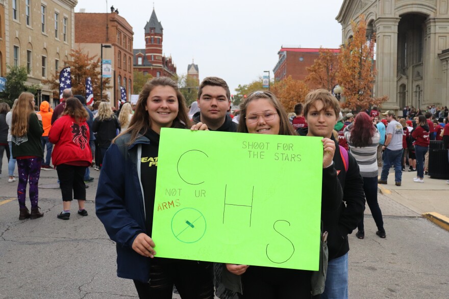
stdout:
[[[44,132],[42,117],[34,112],[34,95],[22,92],[12,115],[12,155],[17,160],[19,183],[17,199],[19,201],[19,220],[36,219],[44,214],[39,211],[39,181],[41,160],[43,158],[40,137]],[[31,214],[25,205],[27,183],[30,182]]]

